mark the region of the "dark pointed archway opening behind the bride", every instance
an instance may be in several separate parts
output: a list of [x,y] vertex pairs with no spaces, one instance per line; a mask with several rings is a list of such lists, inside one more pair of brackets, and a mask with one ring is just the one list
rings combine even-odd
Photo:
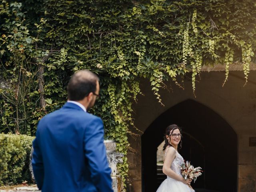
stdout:
[[[204,169],[204,175],[198,178],[194,187],[236,192],[237,135],[221,116],[194,100],[181,102],[161,114],[142,135],[142,191],[155,192],[158,188],[156,151],[165,128],[174,123],[186,133],[180,153],[194,166]],[[194,139],[189,137],[200,142],[204,150],[199,150]]]

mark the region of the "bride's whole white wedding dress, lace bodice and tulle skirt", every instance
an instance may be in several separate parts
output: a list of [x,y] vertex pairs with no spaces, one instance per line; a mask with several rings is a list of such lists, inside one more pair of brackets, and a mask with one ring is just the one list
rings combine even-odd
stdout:
[[[166,149],[167,152],[168,149]],[[164,157],[166,156],[166,152]],[[182,176],[180,172],[180,166],[184,163],[183,157],[176,151],[176,156],[171,164],[171,169],[178,175]],[[172,179],[167,176],[167,179],[162,182],[156,192],[195,192],[188,185],[181,181]]]

